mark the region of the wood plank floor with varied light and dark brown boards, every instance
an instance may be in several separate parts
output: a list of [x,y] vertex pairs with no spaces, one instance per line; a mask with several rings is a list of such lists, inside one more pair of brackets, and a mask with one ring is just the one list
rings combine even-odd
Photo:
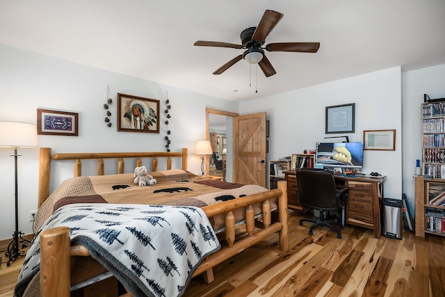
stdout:
[[[445,237],[405,230],[402,240],[375,239],[359,227],[342,239],[325,228],[309,236],[301,217],[289,214],[289,252],[269,236],[213,268],[211,284],[191,280],[184,296],[445,296]],[[13,296],[22,263],[2,264],[0,297]]]

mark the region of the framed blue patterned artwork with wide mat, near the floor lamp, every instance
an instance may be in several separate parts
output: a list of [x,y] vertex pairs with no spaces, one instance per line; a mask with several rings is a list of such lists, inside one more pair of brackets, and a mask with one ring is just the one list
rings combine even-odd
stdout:
[[79,114],[37,109],[37,134],[78,136]]

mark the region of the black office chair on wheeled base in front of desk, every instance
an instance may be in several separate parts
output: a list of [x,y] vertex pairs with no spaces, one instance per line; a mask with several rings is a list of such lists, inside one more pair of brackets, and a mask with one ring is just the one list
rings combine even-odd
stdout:
[[[348,199],[348,188],[337,188],[332,172],[323,169],[300,169],[296,171],[297,196],[300,204],[304,207],[317,209],[320,211],[318,219],[301,219],[303,222],[314,223],[309,229],[309,235],[318,226],[328,227],[337,232],[337,238],[341,239],[341,229],[343,229],[345,218],[345,205]],[[325,211],[335,210],[340,212],[339,221],[325,220]],[[338,217],[338,216],[337,216]],[[339,229],[334,227],[339,225]]]

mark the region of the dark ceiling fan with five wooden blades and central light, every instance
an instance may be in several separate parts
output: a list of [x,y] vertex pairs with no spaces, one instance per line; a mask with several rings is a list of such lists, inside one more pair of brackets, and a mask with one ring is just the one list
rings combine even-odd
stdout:
[[256,64],[258,63],[261,70],[264,72],[266,77],[270,77],[277,72],[273,69],[272,64],[266,55],[264,55],[264,49],[266,51],[292,51],[300,53],[316,53],[320,47],[320,42],[277,42],[269,43],[266,47],[262,47],[264,42],[266,42],[266,37],[269,35],[275,26],[282,19],[283,14],[278,13],[274,10],[266,10],[263,17],[259,21],[258,26],[250,27],[244,29],[241,32],[241,44],[236,45],[229,42],[218,42],[218,41],[203,41],[198,40],[195,42],[195,46],[198,47],[229,47],[232,49],[246,49],[242,55],[236,56],[229,62],[225,63],[223,66],[219,67],[213,74],[221,74],[225,70],[232,67],[236,62],[244,59],[248,63]]

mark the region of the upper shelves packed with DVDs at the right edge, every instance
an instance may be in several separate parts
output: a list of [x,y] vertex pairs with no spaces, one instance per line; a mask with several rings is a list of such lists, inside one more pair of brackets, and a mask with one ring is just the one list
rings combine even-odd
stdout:
[[422,175],[445,179],[445,102],[421,104]]

